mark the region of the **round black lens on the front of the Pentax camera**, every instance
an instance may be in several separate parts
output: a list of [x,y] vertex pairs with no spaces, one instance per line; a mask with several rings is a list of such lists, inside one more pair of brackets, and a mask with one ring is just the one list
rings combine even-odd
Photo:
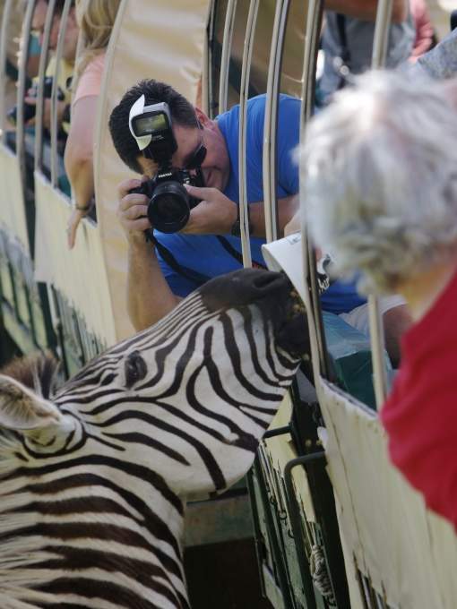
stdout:
[[177,233],[190,216],[189,194],[179,182],[157,184],[148,206],[151,225],[162,233]]

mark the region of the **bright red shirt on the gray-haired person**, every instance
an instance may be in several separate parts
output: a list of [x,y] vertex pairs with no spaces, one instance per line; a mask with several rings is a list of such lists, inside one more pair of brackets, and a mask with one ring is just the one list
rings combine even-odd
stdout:
[[457,528],[457,273],[401,339],[401,368],[381,411],[393,463]]

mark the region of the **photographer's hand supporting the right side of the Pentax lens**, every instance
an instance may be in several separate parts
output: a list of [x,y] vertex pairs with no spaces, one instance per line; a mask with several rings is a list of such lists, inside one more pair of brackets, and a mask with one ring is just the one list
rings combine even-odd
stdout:
[[190,212],[181,233],[193,235],[227,235],[237,219],[237,204],[217,188],[185,185],[190,196],[202,201]]

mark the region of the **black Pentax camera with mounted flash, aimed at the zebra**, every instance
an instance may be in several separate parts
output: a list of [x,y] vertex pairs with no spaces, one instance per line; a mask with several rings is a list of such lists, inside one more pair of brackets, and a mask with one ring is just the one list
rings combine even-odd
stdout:
[[145,158],[159,165],[156,176],[130,192],[149,198],[148,218],[154,228],[162,233],[176,233],[185,227],[190,210],[201,201],[191,197],[183,184],[205,185],[201,165],[206,149],[202,144],[195,151],[192,163],[185,169],[174,169],[171,157],[177,150],[177,142],[171,129],[168,104],[144,106],[144,95],[130,110],[129,127]]

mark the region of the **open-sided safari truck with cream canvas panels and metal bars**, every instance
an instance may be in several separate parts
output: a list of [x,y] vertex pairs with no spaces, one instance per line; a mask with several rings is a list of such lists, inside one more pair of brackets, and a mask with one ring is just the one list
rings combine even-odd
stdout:
[[[238,250],[244,265],[251,266],[246,104],[265,94],[264,258],[271,270],[289,275],[303,300],[310,352],[246,480],[217,500],[188,506],[191,603],[245,609],[453,609],[453,530],[427,511],[392,467],[378,420],[393,371],[376,300],[369,301],[370,338],[323,312],[323,274],[306,226],[293,236],[280,234],[278,100],[280,93],[300,100],[303,134],[315,111],[323,0],[122,0],[97,101],[94,208],[82,219],[71,250],[66,227],[73,193],[56,117],[71,0],[65,2],[54,50],[49,39],[55,0],[48,0],[38,72],[30,77],[37,4],[2,3],[2,362],[50,350],[61,362],[63,378],[69,378],[134,334],[125,302],[127,244],[116,218],[116,185],[132,172],[116,154],[108,117],[125,91],[142,79],[165,81],[193,104],[198,99],[211,118],[239,104]],[[379,1],[376,67],[384,63],[391,11],[392,1]],[[49,84],[51,56],[55,71]],[[32,86],[37,105],[30,125],[24,98]],[[43,122],[46,99],[50,129]],[[8,118],[12,109],[14,124]],[[206,581],[197,579],[197,563],[206,570]]]

